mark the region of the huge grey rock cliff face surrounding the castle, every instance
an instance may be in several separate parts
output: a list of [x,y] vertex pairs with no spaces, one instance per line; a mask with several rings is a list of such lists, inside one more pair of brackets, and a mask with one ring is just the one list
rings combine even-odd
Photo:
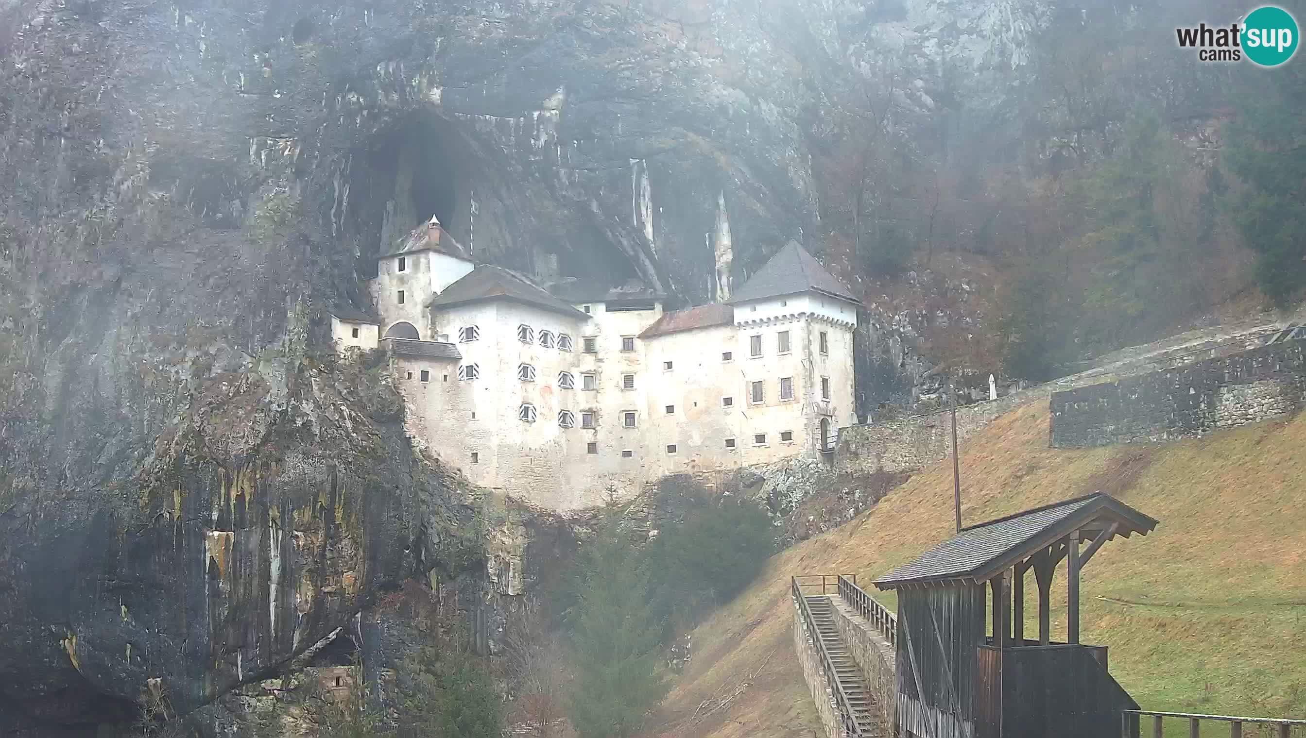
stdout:
[[1000,124],[1049,17],[0,0],[0,731],[188,712],[414,573],[517,586],[377,367],[325,350],[394,238],[435,213],[478,260],[727,297],[829,230],[846,90],[892,67],[921,141]]

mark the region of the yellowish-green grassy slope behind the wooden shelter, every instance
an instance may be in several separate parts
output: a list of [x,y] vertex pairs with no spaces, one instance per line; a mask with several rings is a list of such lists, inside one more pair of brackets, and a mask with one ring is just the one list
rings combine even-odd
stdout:
[[[1094,490],[1161,521],[1145,538],[1107,543],[1083,580],[1084,643],[1110,647],[1113,674],[1144,709],[1306,712],[1306,414],[1162,445],[1066,451],[1047,448],[1040,402],[968,441],[961,469],[968,524]],[[789,576],[868,581],[951,533],[952,465],[943,462],[774,556],[695,631],[662,734],[818,735],[790,645]],[[1025,589],[1033,594],[1033,575]],[[1053,637],[1063,639],[1064,563],[1053,593]],[[1025,611],[1025,632],[1037,634],[1033,602]]]

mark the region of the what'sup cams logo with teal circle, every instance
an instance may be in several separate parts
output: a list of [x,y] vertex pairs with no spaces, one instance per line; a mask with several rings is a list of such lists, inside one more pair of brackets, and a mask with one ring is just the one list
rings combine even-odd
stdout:
[[1242,61],[1279,67],[1297,52],[1297,18],[1282,8],[1264,5],[1241,24],[1174,29],[1179,48],[1196,48],[1200,61]]

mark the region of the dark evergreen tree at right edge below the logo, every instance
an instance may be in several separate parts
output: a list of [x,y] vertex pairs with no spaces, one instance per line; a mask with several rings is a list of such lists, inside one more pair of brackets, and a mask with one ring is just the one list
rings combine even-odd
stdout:
[[1306,67],[1247,69],[1225,161],[1246,184],[1234,223],[1256,252],[1256,281],[1279,306],[1306,286]]

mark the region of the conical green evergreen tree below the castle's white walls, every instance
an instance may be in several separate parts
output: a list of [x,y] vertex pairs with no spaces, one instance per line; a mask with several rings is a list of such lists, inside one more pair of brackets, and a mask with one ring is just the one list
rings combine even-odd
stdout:
[[667,692],[648,559],[620,537],[615,515],[579,559],[568,717],[582,738],[628,738]]

